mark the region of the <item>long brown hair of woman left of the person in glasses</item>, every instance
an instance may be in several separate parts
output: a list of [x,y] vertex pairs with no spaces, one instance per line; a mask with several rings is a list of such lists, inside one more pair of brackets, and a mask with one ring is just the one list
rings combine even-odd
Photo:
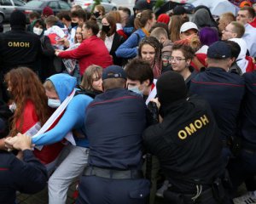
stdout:
[[161,50],[162,44],[155,37],[144,37],[142,42],[139,44],[138,48],[138,57],[142,59],[142,48],[143,45],[148,44],[154,48],[154,62],[151,65],[151,69],[153,70],[154,77],[160,77],[162,70],[162,61],[161,61]]

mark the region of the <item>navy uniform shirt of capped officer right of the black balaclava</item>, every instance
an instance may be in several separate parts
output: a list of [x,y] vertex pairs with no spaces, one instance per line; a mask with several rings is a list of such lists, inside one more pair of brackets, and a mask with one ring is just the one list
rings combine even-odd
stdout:
[[190,94],[207,99],[220,129],[222,139],[237,132],[237,120],[245,90],[242,77],[218,67],[208,67],[191,80]]

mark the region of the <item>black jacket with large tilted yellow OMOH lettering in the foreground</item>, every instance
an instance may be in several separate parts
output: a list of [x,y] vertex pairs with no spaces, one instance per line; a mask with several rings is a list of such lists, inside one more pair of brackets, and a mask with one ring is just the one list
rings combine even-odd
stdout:
[[194,193],[195,180],[211,184],[223,171],[222,143],[207,102],[193,96],[162,108],[160,114],[163,122],[148,127],[143,142],[160,160],[173,188],[181,193]]

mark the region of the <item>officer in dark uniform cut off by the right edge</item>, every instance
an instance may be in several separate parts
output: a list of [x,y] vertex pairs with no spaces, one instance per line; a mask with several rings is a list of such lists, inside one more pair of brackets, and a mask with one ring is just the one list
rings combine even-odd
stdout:
[[[237,139],[241,142],[241,150],[236,158],[230,160],[228,166],[234,190],[243,182],[251,181],[247,190],[255,190],[256,174],[256,71],[243,75],[246,82],[246,94],[241,105]],[[252,179],[251,179],[252,178]],[[254,197],[255,199],[255,197]]]

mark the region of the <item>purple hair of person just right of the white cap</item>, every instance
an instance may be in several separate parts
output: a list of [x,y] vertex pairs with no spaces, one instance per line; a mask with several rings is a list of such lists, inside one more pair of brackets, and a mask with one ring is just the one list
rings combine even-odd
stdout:
[[201,45],[210,46],[213,42],[218,41],[218,31],[212,27],[203,27],[199,31]]

